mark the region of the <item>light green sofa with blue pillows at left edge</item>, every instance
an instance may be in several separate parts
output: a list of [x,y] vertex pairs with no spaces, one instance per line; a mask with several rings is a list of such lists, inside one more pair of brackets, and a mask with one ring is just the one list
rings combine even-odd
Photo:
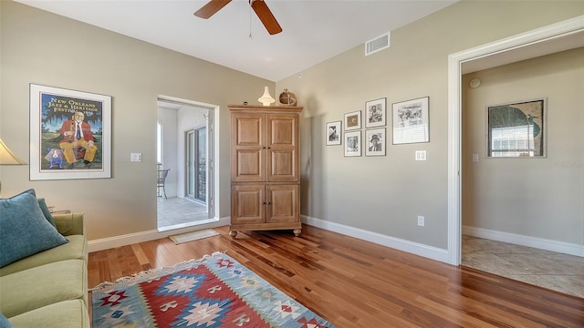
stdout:
[[[83,214],[53,215],[67,243],[0,268],[0,327],[89,327]],[[0,316],[1,317],[1,316]]]

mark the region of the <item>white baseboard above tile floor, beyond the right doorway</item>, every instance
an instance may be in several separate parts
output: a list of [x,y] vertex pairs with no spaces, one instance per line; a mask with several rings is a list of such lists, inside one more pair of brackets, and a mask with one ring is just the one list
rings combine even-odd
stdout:
[[564,241],[552,241],[543,238],[524,236],[504,231],[492,231],[471,226],[463,226],[463,233],[469,236],[490,239],[493,241],[503,241],[540,250],[557,251],[564,254],[584,257],[584,245]]

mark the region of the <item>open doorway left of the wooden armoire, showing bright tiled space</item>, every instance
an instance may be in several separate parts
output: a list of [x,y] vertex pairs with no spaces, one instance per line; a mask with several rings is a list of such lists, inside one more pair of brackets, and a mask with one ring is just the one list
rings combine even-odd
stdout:
[[213,106],[174,97],[157,102],[157,170],[168,169],[166,197],[157,188],[159,231],[214,222]]

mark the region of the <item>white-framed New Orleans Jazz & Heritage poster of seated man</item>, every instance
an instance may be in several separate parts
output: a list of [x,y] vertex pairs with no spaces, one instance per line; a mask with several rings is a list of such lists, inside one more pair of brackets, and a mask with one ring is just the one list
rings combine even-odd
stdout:
[[111,178],[111,97],[30,84],[30,179]]

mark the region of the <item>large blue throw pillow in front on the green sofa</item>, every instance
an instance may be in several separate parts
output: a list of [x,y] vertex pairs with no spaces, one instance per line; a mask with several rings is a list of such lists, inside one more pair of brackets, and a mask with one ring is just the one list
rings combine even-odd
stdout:
[[67,242],[43,215],[35,190],[0,199],[0,268]]

